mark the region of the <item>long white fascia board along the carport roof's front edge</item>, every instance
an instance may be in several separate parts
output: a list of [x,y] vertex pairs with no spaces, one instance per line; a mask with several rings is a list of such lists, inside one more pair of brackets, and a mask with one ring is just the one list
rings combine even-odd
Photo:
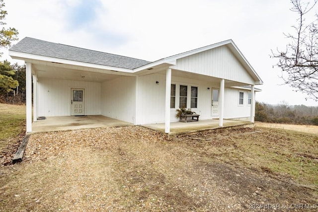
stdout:
[[28,53],[20,53],[20,52],[14,52],[14,51],[9,51],[9,56],[12,59],[23,60],[23,61],[38,60],[38,61],[46,61],[46,62],[52,62],[52,63],[81,66],[81,67],[87,67],[87,68],[95,68],[95,69],[103,69],[103,70],[110,70],[110,71],[121,71],[121,72],[133,73],[133,70],[131,70],[131,69],[103,66],[103,65],[97,65],[97,64],[89,64],[89,63],[83,63],[83,62],[78,62],[78,61],[70,61],[70,60],[59,59],[59,58],[50,58],[50,57],[45,57],[45,56],[32,55],[32,54],[28,54]]

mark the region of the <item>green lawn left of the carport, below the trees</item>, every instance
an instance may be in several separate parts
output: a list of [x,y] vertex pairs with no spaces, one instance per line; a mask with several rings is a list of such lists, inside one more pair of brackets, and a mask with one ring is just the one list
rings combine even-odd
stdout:
[[0,104],[0,151],[25,131],[25,106]]

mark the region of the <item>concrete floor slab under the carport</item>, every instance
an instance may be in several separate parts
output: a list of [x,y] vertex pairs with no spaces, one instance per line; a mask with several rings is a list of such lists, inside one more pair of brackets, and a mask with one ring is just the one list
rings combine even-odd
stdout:
[[55,116],[32,123],[32,133],[133,125],[106,116]]

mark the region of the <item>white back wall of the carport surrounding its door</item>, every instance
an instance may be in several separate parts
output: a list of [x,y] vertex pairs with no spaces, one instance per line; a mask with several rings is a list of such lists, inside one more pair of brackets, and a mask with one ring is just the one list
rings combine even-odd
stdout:
[[38,116],[70,116],[71,88],[85,89],[85,115],[100,115],[100,83],[65,79],[38,80]]

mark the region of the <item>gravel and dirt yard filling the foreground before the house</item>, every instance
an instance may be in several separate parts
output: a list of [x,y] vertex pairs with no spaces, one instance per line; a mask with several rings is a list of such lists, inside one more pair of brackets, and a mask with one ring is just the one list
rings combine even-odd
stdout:
[[166,139],[139,126],[34,134],[25,160],[0,168],[0,197],[3,212],[317,208],[318,136],[254,128]]

